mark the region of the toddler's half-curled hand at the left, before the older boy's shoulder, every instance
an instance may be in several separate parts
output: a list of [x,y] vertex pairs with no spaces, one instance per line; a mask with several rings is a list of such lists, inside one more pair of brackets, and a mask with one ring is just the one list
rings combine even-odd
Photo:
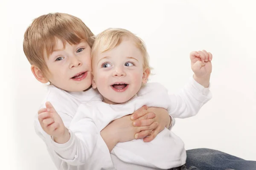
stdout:
[[61,117],[50,102],[45,103],[46,108],[38,111],[38,120],[43,130],[57,143],[66,143],[70,139],[70,133],[64,126]]

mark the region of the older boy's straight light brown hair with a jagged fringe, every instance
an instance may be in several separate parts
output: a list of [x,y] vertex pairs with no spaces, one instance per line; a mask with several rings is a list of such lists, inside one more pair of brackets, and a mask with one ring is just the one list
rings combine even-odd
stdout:
[[33,20],[26,29],[23,41],[23,51],[31,65],[36,65],[44,73],[49,71],[44,61],[44,51],[47,57],[56,46],[56,40],[71,45],[86,41],[90,47],[93,33],[78,17],[64,13],[49,13]]

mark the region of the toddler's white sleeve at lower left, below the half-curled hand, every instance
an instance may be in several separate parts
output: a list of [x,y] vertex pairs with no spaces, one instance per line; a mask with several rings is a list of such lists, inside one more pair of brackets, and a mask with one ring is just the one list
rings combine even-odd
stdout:
[[[70,165],[91,164],[88,160],[96,160],[92,156],[110,158],[107,145],[100,135],[100,131],[90,117],[85,105],[80,105],[69,127],[70,140],[58,144],[51,140],[51,146],[58,157]],[[104,155],[106,154],[106,155]],[[112,163],[112,161],[110,161]]]

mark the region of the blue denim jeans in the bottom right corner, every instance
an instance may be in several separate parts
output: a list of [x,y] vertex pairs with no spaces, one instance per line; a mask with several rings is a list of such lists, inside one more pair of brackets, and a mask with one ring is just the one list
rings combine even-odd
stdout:
[[256,170],[256,161],[247,161],[207,148],[187,150],[185,166],[171,170]]

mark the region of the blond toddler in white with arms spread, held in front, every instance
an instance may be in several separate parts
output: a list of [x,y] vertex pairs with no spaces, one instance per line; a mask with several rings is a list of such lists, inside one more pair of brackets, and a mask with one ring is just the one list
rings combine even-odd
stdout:
[[[208,86],[212,67],[207,60],[211,60],[212,55],[206,51],[199,53],[194,52],[191,55],[194,79],[199,78],[202,84]],[[201,59],[206,62],[202,62]],[[87,169],[93,170],[115,169],[115,166],[120,170],[155,170],[180,167],[185,164],[184,144],[167,128],[149,143],[136,139],[116,142],[113,150],[106,145],[100,147],[96,145],[99,141],[98,134],[105,126],[143,105],[165,108],[172,116],[180,118],[194,116],[197,113],[193,111],[180,113],[177,110],[183,108],[175,107],[180,101],[175,98],[170,99],[163,86],[157,83],[146,85],[150,67],[143,41],[125,29],[103,31],[96,37],[92,47],[92,68],[92,86],[98,89],[102,97],[96,96],[90,102],[79,106],[70,123],[71,137],[61,139],[61,143],[69,143],[68,149],[60,149],[56,152],[66,161],[72,161],[77,165],[87,164]],[[211,94],[209,91],[205,95],[202,94],[204,87],[194,79],[183,89],[180,97],[194,98],[191,104],[201,107],[209,101]],[[150,99],[150,96],[154,96],[154,99]],[[49,113],[58,115],[53,108]],[[95,150],[101,151],[101,158],[97,161],[91,159],[95,157]]]

